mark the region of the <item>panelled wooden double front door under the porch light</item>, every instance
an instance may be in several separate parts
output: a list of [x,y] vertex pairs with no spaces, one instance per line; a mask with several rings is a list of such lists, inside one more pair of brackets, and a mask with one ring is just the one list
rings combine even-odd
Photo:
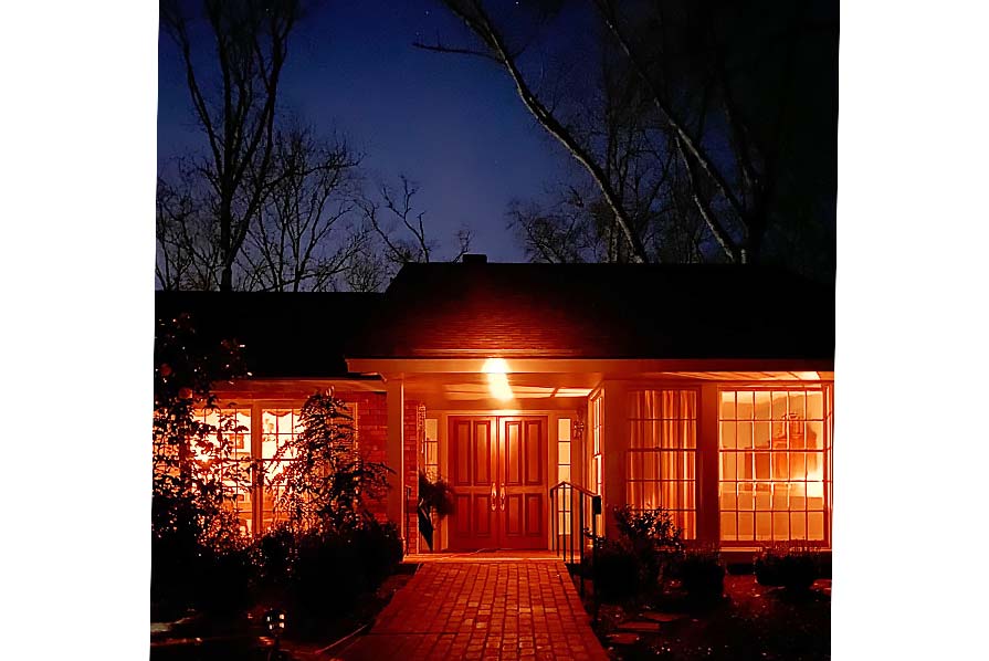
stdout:
[[547,547],[546,430],[546,417],[450,418],[451,549]]

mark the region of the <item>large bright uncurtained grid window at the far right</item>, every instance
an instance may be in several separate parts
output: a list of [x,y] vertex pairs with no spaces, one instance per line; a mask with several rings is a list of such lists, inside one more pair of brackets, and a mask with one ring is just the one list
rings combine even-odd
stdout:
[[824,386],[720,392],[722,541],[827,542],[830,397]]

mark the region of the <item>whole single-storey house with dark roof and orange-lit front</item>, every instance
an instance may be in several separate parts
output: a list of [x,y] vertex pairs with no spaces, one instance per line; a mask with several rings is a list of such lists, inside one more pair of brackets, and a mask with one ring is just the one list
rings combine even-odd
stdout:
[[[547,549],[613,510],[663,506],[723,550],[830,548],[833,288],[772,269],[410,264],[383,294],[158,293],[245,345],[218,384],[244,457],[245,532],[277,518],[265,476],[305,399],[348,402],[394,474],[376,514],[418,532],[419,473],[454,490],[435,549]],[[207,413],[204,413],[207,415]],[[597,513],[596,496],[600,496]]]

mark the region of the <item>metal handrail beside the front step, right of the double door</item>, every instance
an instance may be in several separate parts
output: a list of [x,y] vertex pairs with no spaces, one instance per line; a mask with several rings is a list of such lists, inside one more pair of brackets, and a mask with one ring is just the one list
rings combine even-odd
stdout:
[[[580,563],[582,574],[585,552],[593,553],[595,539],[598,537],[601,496],[578,484],[560,482],[549,489],[549,510],[553,512],[553,550],[565,563]],[[580,595],[583,596],[582,578]]]

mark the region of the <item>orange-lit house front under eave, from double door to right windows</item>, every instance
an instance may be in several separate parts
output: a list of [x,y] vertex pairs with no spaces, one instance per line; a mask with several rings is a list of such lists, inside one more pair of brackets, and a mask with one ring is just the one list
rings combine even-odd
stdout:
[[419,471],[456,493],[456,512],[432,521],[440,554],[579,552],[583,529],[617,534],[613,510],[625,504],[663,506],[686,539],[730,555],[830,547],[832,373],[403,363],[382,377],[388,410],[417,411],[415,424],[388,426],[388,463],[401,460],[404,475],[389,517],[406,523],[410,554],[431,553],[418,529]]

